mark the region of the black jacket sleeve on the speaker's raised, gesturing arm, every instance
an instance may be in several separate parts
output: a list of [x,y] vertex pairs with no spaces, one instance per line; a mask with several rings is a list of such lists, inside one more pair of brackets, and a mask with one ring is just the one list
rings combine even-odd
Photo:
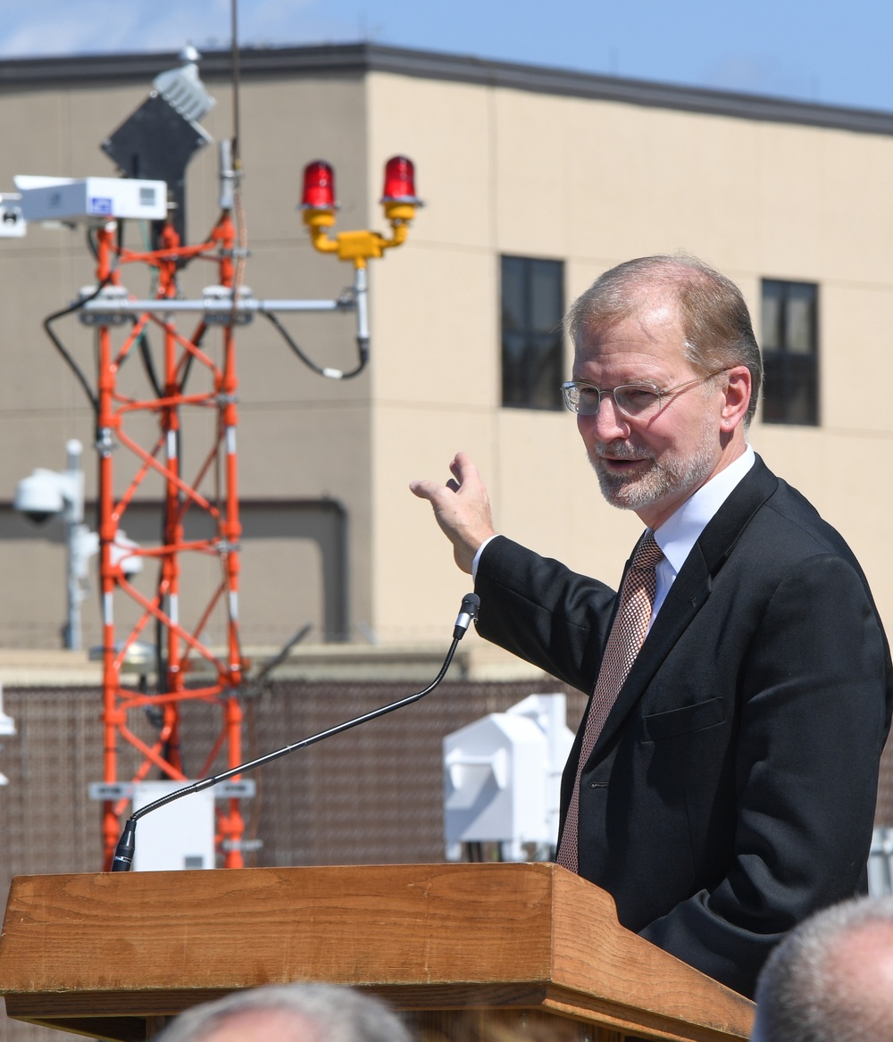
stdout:
[[481,637],[590,692],[614,614],[614,590],[504,536],[483,550],[474,590]]

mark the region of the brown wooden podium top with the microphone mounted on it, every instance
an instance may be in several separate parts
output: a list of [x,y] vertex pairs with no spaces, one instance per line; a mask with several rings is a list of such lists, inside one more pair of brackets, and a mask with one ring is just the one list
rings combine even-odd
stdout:
[[10,1017],[142,1042],[197,1002],[290,981],[367,988],[414,1011],[422,1038],[487,1037],[493,1018],[525,1032],[548,1020],[561,1039],[720,1042],[747,1038],[753,1011],[554,865],[13,880],[0,938]]

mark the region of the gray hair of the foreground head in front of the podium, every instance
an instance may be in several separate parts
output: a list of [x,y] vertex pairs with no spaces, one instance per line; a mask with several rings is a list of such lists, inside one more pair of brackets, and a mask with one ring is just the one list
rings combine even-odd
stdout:
[[227,1020],[256,1012],[293,1014],[321,1042],[412,1042],[408,1029],[380,999],[330,984],[266,985],[234,991],[181,1013],[156,1042],[202,1042]]

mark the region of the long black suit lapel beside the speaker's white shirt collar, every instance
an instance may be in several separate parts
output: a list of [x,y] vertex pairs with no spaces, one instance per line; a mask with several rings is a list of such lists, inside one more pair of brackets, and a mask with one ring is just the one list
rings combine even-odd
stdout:
[[714,576],[731,553],[750,519],[777,487],[778,479],[756,456],[751,469],[701,532],[632,663],[595,744],[593,755],[611,743],[620,729],[661,664],[703,606]]

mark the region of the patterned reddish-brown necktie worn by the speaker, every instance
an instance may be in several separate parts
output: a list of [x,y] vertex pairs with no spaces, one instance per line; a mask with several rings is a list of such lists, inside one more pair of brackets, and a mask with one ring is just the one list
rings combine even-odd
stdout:
[[664,556],[649,528],[632,554],[620,590],[620,606],[604,646],[604,655],[586,718],[579,762],[576,768],[568,816],[562,833],[562,845],[555,859],[559,865],[577,871],[577,826],[579,824],[579,779],[590,753],[595,748],[604,721],[617,700],[620,689],[632,668],[636,655],[645,642],[654,592],[658,586],[655,568]]

